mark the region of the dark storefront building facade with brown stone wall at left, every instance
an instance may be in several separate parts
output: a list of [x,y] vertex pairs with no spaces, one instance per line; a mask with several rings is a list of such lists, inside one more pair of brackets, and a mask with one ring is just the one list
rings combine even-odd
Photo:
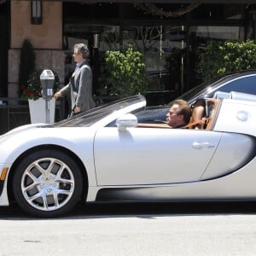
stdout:
[[142,50],[148,76],[171,73],[165,84],[148,90],[180,94],[200,82],[196,61],[207,41],[255,39],[256,1],[145,2],[0,0],[0,97],[19,96],[20,47],[25,39],[35,49],[36,67],[55,70],[61,85],[73,71],[73,44],[88,44],[96,96],[107,50],[127,44]]

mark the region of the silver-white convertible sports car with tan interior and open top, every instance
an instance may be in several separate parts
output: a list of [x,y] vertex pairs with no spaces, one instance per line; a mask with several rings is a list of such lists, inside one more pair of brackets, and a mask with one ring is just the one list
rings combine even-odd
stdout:
[[53,218],[79,201],[256,200],[256,96],[204,100],[205,115],[179,129],[138,95],[9,131],[0,137],[0,205]]

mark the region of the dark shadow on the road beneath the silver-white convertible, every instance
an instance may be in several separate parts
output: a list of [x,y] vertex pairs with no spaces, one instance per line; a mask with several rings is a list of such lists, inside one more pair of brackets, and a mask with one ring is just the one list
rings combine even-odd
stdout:
[[[256,202],[80,203],[64,218],[108,218],[143,215],[256,214]],[[31,218],[17,205],[0,207],[0,219]]]

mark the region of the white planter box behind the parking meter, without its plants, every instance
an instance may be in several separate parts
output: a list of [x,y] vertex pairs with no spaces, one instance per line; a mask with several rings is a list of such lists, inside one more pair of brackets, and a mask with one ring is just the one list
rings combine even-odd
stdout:
[[28,100],[31,123],[46,123],[46,109],[49,108],[49,123],[55,122],[55,98],[45,102],[43,98]]

